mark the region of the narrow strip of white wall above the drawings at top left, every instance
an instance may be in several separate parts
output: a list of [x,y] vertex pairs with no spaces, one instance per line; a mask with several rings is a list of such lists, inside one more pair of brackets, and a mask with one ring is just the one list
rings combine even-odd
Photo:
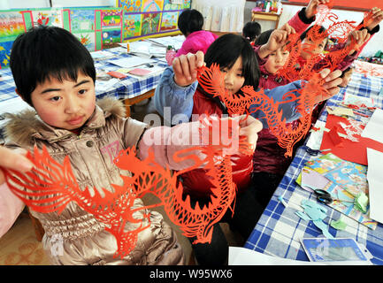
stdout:
[[[87,7],[114,6],[115,0],[51,0],[52,6]],[[50,8],[50,0],[0,0],[0,10],[23,8]]]

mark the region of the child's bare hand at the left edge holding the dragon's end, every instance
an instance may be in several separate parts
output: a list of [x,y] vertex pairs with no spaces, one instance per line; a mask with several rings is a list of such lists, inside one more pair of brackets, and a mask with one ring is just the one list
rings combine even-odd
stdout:
[[25,149],[11,150],[0,147],[0,185],[4,183],[4,172],[1,168],[28,172],[34,167],[34,164],[25,157],[26,154]]

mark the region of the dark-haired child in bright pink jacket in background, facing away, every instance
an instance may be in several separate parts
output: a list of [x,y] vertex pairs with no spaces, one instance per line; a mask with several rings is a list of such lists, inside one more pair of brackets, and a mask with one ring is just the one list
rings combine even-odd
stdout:
[[168,50],[166,61],[168,65],[172,65],[172,60],[181,55],[203,51],[206,53],[211,43],[214,42],[218,35],[203,30],[203,15],[195,9],[187,9],[182,11],[178,19],[178,27],[180,32],[185,35],[186,40],[182,43],[180,50]]

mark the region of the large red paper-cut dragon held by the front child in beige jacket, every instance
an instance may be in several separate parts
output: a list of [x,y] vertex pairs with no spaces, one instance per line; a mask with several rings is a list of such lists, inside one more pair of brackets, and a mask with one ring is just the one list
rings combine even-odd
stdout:
[[[203,144],[211,144],[215,134],[221,134],[221,127],[213,129],[213,118],[204,117],[201,120],[200,129]],[[27,157],[34,163],[32,172],[21,174],[15,171],[5,172],[6,181],[11,191],[17,195],[32,210],[60,214],[70,202],[77,203],[81,209],[93,214],[95,218],[106,224],[105,230],[116,237],[118,250],[114,256],[124,257],[135,247],[138,233],[149,227],[150,214],[144,213],[144,219],[148,225],[143,225],[143,219],[134,218],[137,210],[145,211],[159,205],[164,205],[165,212],[174,224],[188,237],[196,237],[195,242],[211,241],[213,225],[217,223],[234,203],[236,185],[232,178],[232,166],[230,155],[231,142],[239,142],[239,149],[243,154],[251,154],[249,144],[243,138],[235,139],[230,136],[233,133],[232,121],[227,122],[227,132],[224,131],[226,140],[223,139],[217,145],[206,145],[193,147],[178,151],[173,159],[180,162],[184,159],[192,159],[195,164],[183,171],[172,173],[171,170],[156,164],[153,152],[149,157],[140,160],[136,157],[135,149],[125,149],[119,152],[114,163],[123,170],[132,172],[132,176],[121,175],[123,185],[111,184],[114,192],[103,189],[103,195],[94,189],[95,195],[89,193],[88,187],[81,190],[73,175],[72,167],[68,157],[65,157],[63,164],[57,163],[50,157],[47,149],[43,148],[42,153],[34,148],[33,154],[28,153]],[[206,132],[206,129],[209,131]],[[208,134],[206,134],[208,133]],[[226,145],[224,145],[224,143]],[[201,150],[203,159],[195,156],[195,150]],[[219,158],[219,162],[218,162]],[[183,187],[177,182],[180,174],[188,172],[197,167],[203,166],[211,176],[211,203],[209,206],[191,208],[190,201],[182,199]],[[159,203],[133,209],[134,199],[146,194],[153,194],[160,200]],[[234,211],[234,208],[231,208]],[[125,231],[127,222],[140,224],[139,228],[133,231]]]

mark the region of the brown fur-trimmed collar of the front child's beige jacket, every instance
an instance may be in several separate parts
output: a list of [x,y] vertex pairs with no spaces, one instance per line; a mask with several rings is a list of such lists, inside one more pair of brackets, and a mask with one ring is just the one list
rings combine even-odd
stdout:
[[[124,104],[111,97],[104,97],[96,102],[96,110],[88,119],[83,128],[98,128],[105,125],[105,118],[109,116],[125,117],[126,109]],[[4,127],[4,134],[7,142],[16,143],[21,147],[33,146],[36,138],[56,142],[72,132],[55,128],[44,123],[34,110],[25,110],[17,114],[4,114],[8,123]]]

